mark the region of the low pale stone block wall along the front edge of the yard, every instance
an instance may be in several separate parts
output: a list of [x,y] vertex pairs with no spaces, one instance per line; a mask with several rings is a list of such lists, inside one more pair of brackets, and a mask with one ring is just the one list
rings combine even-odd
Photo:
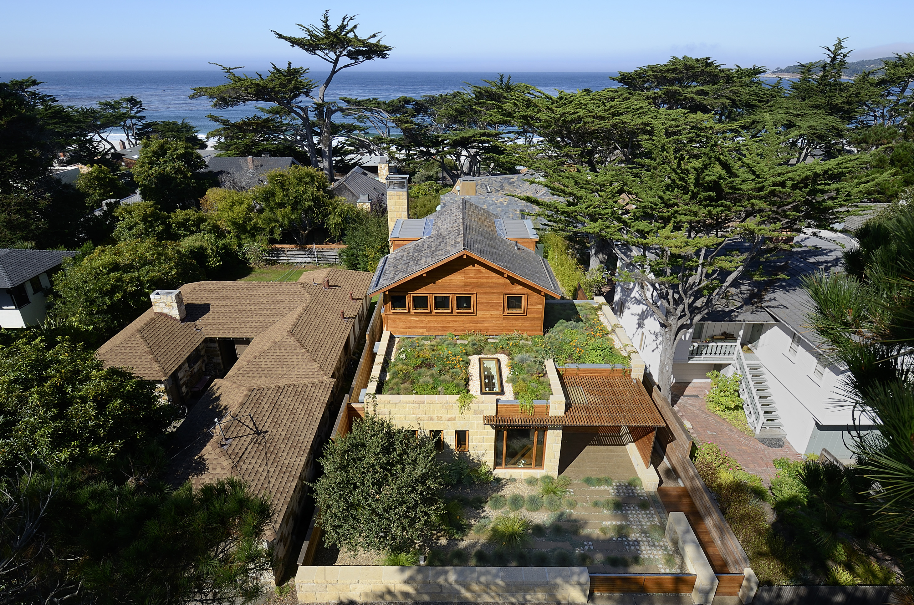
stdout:
[[587,568],[302,567],[300,603],[368,601],[586,603]]

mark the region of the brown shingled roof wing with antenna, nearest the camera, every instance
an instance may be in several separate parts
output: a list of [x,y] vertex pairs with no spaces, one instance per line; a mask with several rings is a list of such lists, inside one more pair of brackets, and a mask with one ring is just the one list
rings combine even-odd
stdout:
[[175,432],[174,482],[198,486],[239,477],[255,493],[270,494],[282,517],[307,471],[334,384],[316,380],[250,388],[228,378],[216,380]]

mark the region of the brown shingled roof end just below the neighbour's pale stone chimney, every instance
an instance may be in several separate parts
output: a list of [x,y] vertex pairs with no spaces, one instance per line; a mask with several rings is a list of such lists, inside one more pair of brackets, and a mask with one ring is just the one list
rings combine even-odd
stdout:
[[165,380],[203,341],[194,324],[149,309],[101,345],[96,356],[146,380]]

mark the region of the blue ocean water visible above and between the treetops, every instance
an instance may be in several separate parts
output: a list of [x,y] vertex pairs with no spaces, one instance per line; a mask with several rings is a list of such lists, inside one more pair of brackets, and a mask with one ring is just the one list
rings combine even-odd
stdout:
[[[248,73],[251,73],[250,70]],[[251,74],[252,75],[252,74]],[[610,72],[522,72],[511,74],[512,80],[526,82],[540,90],[601,90],[617,84]],[[186,120],[205,134],[216,124],[207,113],[238,120],[257,110],[249,105],[227,110],[214,110],[205,99],[188,99],[194,86],[215,86],[225,81],[220,71],[48,71],[3,72],[0,81],[34,76],[45,82],[39,90],[52,94],[65,105],[92,105],[96,101],[120,99],[133,95],[147,108],[147,120]],[[322,81],[325,74],[311,74]],[[459,90],[465,82],[482,84],[497,80],[497,73],[478,71],[343,71],[336,75],[327,97],[356,99],[396,99],[401,96],[420,97]]]

